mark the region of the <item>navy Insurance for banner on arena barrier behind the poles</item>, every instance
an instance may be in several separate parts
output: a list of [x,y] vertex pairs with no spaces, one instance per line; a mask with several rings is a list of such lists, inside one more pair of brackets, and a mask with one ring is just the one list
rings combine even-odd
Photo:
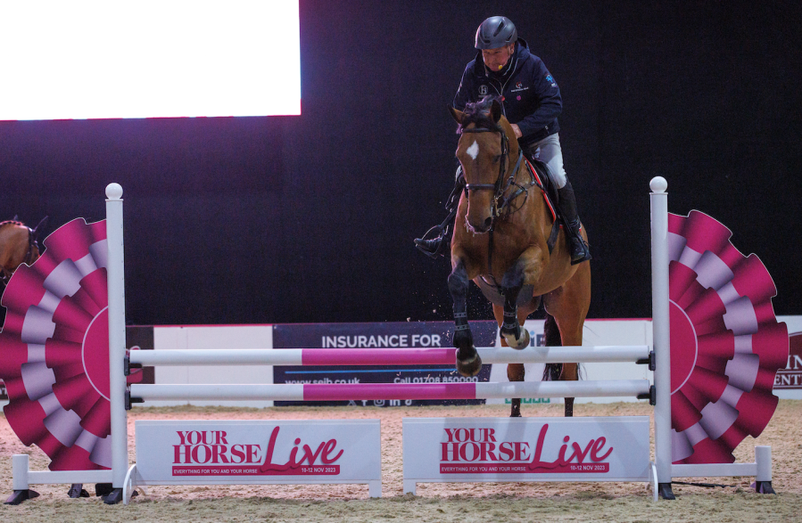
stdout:
[[[273,326],[274,348],[409,348],[451,347],[453,322],[416,323],[307,323]],[[476,347],[495,345],[498,324],[471,322]],[[456,349],[455,349],[456,350]],[[490,380],[491,365],[472,378],[459,375],[453,365],[274,366],[273,383],[459,383]],[[293,402],[275,405],[476,405],[484,399],[460,400],[352,400]]]

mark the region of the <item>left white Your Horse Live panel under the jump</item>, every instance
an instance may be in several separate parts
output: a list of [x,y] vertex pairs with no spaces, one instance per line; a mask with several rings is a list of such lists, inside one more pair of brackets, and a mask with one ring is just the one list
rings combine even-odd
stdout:
[[141,485],[381,480],[379,420],[136,421]]

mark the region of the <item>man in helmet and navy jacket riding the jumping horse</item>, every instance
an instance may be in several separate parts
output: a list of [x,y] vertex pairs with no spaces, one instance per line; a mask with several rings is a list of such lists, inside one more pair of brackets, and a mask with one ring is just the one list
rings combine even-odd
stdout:
[[[464,110],[467,102],[478,102],[487,94],[501,97],[504,115],[521,149],[527,157],[539,159],[548,166],[551,183],[558,189],[558,208],[570,239],[571,264],[591,259],[588,245],[579,233],[574,189],[563,168],[557,121],[562,100],[557,82],[542,60],[529,52],[525,40],[518,38],[515,25],[507,17],[492,16],[484,20],[476,30],[475,47],[479,53],[465,68],[454,107]],[[415,240],[415,245],[426,255],[436,257],[448,247],[459,193],[464,187],[465,178],[460,167],[454,191],[446,204],[449,217],[430,230],[439,231],[440,235],[431,240],[426,239],[426,235]]]

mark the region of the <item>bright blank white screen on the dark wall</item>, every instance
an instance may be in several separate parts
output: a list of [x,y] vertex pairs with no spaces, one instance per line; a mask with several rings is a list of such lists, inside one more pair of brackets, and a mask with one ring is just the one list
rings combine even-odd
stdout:
[[0,3],[0,120],[301,114],[298,0]]

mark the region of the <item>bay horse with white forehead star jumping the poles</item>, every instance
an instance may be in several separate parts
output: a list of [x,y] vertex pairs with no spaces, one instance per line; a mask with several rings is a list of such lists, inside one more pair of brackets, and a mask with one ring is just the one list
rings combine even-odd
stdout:
[[[485,97],[468,103],[464,111],[449,109],[459,124],[456,156],[466,181],[451,239],[448,277],[457,371],[475,376],[482,369],[467,322],[471,281],[492,303],[502,346],[529,346],[523,324],[541,300],[546,345],[582,345],[591,303],[590,262],[571,265],[566,232],[542,197],[542,186],[528,162],[522,161],[523,151],[501,114],[500,102]],[[558,233],[553,249],[552,233]],[[587,241],[584,226],[582,235]],[[510,381],[523,381],[524,365],[508,364],[507,376]],[[543,379],[578,380],[578,364],[547,365]],[[573,416],[574,398],[565,400],[565,415]],[[521,415],[520,405],[520,398],[512,400],[511,417]]]

